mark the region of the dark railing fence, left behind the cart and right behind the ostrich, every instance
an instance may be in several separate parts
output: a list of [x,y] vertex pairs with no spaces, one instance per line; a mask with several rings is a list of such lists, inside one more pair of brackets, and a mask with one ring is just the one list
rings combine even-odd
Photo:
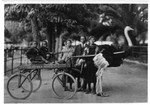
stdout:
[[[5,49],[4,50],[4,74],[13,74],[17,71],[17,67],[23,63],[29,63],[25,56],[27,49]],[[127,59],[136,60],[147,63],[148,57],[147,46],[131,47],[131,54]]]

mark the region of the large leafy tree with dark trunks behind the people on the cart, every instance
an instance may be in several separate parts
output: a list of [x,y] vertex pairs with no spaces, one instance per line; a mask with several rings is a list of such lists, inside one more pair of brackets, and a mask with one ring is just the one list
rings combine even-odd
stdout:
[[38,30],[41,27],[46,27],[49,46],[53,50],[55,39],[58,39],[64,30],[71,32],[76,30],[78,26],[90,27],[92,18],[93,20],[95,17],[98,18],[96,12],[93,12],[95,9],[93,7],[86,4],[5,5],[5,20],[21,22],[30,20],[35,40],[39,38]]

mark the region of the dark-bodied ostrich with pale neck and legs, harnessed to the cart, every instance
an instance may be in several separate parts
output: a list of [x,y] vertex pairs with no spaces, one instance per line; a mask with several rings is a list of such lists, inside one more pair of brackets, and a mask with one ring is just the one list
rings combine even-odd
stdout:
[[[129,38],[128,32],[133,30],[131,27],[126,26],[124,29],[124,35],[127,39],[128,46],[131,47],[132,41]],[[99,46],[99,53],[94,57],[93,61],[98,67],[96,72],[97,83],[96,83],[96,94],[98,96],[108,96],[103,94],[102,90],[102,76],[103,72],[107,67],[118,67],[122,64],[124,58],[129,54],[129,49],[125,51],[118,51],[112,43],[109,42],[96,42]]]

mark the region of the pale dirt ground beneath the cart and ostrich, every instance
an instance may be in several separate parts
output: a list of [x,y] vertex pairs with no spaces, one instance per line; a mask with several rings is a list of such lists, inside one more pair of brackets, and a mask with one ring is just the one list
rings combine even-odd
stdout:
[[147,102],[148,72],[147,66],[124,63],[120,67],[108,68],[104,73],[104,91],[109,97],[98,97],[93,94],[77,92],[70,100],[61,100],[55,96],[51,89],[53,71],[42,71],[42,87],[26,100],[12,99],[6,90],[7,77],[5,77],[5,103],[128,103]]

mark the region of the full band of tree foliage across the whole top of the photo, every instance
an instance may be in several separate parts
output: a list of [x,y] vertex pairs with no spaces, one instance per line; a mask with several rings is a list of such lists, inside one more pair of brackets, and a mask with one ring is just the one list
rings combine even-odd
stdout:
[[129,25],[138,35],[147,31],[147,7],[147,4],[6,4],[5,20],[19,21],[25,31],[31,32],[30,20],[36,16],[36,30],[45,27],[56,36],[64,30],[88,33],[102,23],[121,28]]

